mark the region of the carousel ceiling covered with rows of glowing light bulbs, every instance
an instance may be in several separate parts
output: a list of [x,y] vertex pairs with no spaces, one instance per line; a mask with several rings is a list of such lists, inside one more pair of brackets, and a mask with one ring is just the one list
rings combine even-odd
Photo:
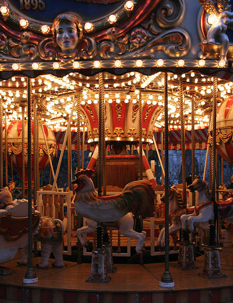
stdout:
[[[213,77],[190,71],[176,75],[168,73],[168,114],[170,144],[180,143],[180,103],[179,78],[183,80],[184,118],[186,140],[191,143],[191,102],[194,98],[195,141],[207,141],[207,127],[212,111]],[[154,133],[156,140],[161,142],[161,132],[164,126],[163,91],[164,73],[157,72],[151,76],[139,72],[129,72],[116,76],[104,72],[104,99],[105,103],[132,103],[139,102],[139,90],[142,94],[142,103],[148,107],[156,105]],[[64,77],[55,77],[50,74],[41,75],[32,79],[32,99],[36,99],[37,113],[41,120],[54,130],[58,143],[62,143],[61,132],[65,131],[71,113],[72,103],[80,92],[81,107],[98,104],[99,77],[98,74],[88,77],[72,72]],[[218,78],[217,105],[230,97],[233,93],[233,82]],[[0,95],[3,98],[3,115],[7,116],[7,124],[13,120],[22,119],[22,106],[25,107],[27,119],[27,78],[13,76],[0,82]],[[92,105],[91,105],[92,104]],[[95,105],[96,106],[96,105]],[[82,112],[81,112],[82,113]],[[85,119],[81,114],[81,126]],[[71,122],[71,131],[77,129],[77,111],[75,110]],[[88,130],[85,128],[85,130]],[[76,142],[75,134],[73,135]],[[87,141],[86,143],[90,143]],[[151,142],[152,143],[152,142]],[[198,147],[197,147],[198,148]],[[206,148],[205,145],[199,148]],[[178,149],[178,148],[177,148]]]

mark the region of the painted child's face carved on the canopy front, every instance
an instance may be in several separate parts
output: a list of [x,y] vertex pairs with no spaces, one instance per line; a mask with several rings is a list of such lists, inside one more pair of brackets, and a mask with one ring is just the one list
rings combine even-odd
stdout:
[[56,41],[63,52],[74,50],[78,44],[78,32],[74,23],[60,23],[56,28]]

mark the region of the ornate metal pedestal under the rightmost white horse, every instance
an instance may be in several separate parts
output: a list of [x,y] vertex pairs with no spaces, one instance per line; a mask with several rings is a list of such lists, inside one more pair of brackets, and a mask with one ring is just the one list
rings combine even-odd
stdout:
[[219,252],[222,251],[221,247],[204,246],[204,266],[201,276],[208,279],[223,278],[221,273],[221,263]]

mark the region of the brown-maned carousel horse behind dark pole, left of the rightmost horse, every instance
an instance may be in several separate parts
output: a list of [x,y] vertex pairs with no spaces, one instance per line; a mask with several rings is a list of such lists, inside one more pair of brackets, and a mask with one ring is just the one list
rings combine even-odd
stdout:
[[[161,201],[164,201],[164,193],[161,197]],[[175,186],[169,188],[168,192],[169,200],[169,234],[182,228],[181,215],[186,214],[186,205],[183,202],[181,193]],[[165,242],[165,228],[163,228],[158,236],[157,246],[164,246]]]

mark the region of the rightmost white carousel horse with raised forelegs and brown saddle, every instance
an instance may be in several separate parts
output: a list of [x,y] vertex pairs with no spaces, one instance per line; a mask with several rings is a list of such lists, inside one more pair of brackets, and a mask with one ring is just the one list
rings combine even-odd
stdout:
[[[209,189],[205,181],[196,178],[194,182],[188,186],[188,189],[194,193],[198,192],[198,198],[195,203],[194,212],[192,214],[182,215],[182,228],[186,229],[186,223],[190,231],[194,231],[194,224],[198,223],[203,229],[209,228],[209,221],[214,220],[214,205],[211,201]],[[217,201],[219,219],[226,219],[233,223],[233,198],[224,201]]]

